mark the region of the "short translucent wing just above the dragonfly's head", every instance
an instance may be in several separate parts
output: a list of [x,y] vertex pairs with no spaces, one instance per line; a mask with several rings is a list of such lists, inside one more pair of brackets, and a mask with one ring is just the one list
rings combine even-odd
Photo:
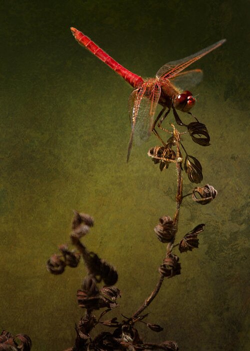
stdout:
[[202,78],[203,72],[196,69],[178,73],[173,78],[170,78],[170,81],[181,90],[189,90],[199,84]]

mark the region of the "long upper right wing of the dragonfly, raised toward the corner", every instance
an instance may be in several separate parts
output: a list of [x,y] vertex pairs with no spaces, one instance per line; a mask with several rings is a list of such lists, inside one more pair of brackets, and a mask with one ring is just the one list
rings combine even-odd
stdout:
[[198,51],[196,54],[185,57],[184,59],[171,61],[162,66],[158,72],[156,73],[156,77],[158,79],[169,79],[175,76],[177,73],[184,70],[186,67],[191,65],[193,62],[201,59],[201,57],[205,56],[212,50],[218,48],[225,42],[225,39],[220,40],[219,42],[208,46],[207,48]]

